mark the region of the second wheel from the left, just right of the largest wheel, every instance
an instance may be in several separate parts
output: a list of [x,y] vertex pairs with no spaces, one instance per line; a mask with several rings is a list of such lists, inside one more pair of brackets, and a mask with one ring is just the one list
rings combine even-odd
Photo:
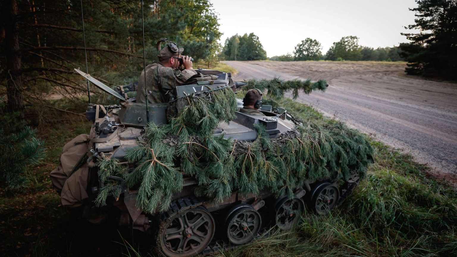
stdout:
[[260,214],[248,204],[239,204],[228,212],[225,228],[228,241],[235,245],[249,243],[259,233]]

